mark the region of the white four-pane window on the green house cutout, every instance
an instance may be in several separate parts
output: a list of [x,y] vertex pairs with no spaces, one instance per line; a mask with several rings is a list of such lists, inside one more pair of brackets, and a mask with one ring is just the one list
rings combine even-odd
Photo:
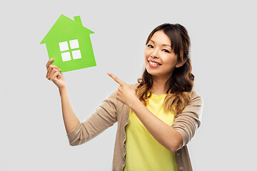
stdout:
[[81,58],[78,39],[59,43],[62,61]]

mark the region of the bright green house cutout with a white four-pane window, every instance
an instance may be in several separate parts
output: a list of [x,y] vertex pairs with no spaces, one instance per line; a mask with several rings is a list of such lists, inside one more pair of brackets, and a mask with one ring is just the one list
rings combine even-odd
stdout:
[[61,15],[40,44],[46,43],[47,53],[54,58],[51,63],[61,73],[96,66],[89,34],[94,33],[82,26],[80,16],[74,20]]

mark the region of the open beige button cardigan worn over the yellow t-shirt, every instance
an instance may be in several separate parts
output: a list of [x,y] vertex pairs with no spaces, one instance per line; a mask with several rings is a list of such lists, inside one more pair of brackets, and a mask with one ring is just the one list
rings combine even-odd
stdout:
[[[138,84],[133,84],[131,86],[136,88],[137,85]],[[178,114],[178,117],[171,125],[183,138],[183,147],[176,151],[178,170],[192,170],[186,145],[191,138],[193,138],[196,129],[200,126],[202,110],[203,100],[200,95],[193,91],[191,93],[191,102],[188,103],[181,114]],[[126,164],[125,126],[129,123],[129,106],[124,105],[124,103],[116,99],[116,91],[111,93],[111,95],[101,103],[95,113],[67,134],[69,144],[72,146],[81,145],[96,137],[96,135],[99,135],[117,121],[118,129],[114,146],[112,170],[122,171]]]

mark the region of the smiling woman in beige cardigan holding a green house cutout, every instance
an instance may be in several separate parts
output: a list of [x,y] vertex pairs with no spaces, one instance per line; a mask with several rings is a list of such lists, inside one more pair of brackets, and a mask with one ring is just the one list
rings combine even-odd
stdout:
[[203,100],[193,90],[190,38],[180,24],[162,24],[148,36],[145,71],[138,83],[119,83],[80,123],[71,108],[64,76],[46,63],[46,78],[59,88],[70,145],[81,145],[118,122],[112,170],[192,170],[187,144],[201,123]]

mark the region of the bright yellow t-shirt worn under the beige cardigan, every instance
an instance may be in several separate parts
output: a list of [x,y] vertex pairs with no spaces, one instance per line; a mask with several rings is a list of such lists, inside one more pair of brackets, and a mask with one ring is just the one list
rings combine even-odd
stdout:
[[[173,113],[163,110],[163,101],[166,95],[152,93],[146,101],[146,108],[164,123],[171,125],[174,121]],[[129,110],[129,123],[125,129],[126,165],[124,171],[177,171],[175,152],[166,149],[154,139],[133,113],[133,110]]]

